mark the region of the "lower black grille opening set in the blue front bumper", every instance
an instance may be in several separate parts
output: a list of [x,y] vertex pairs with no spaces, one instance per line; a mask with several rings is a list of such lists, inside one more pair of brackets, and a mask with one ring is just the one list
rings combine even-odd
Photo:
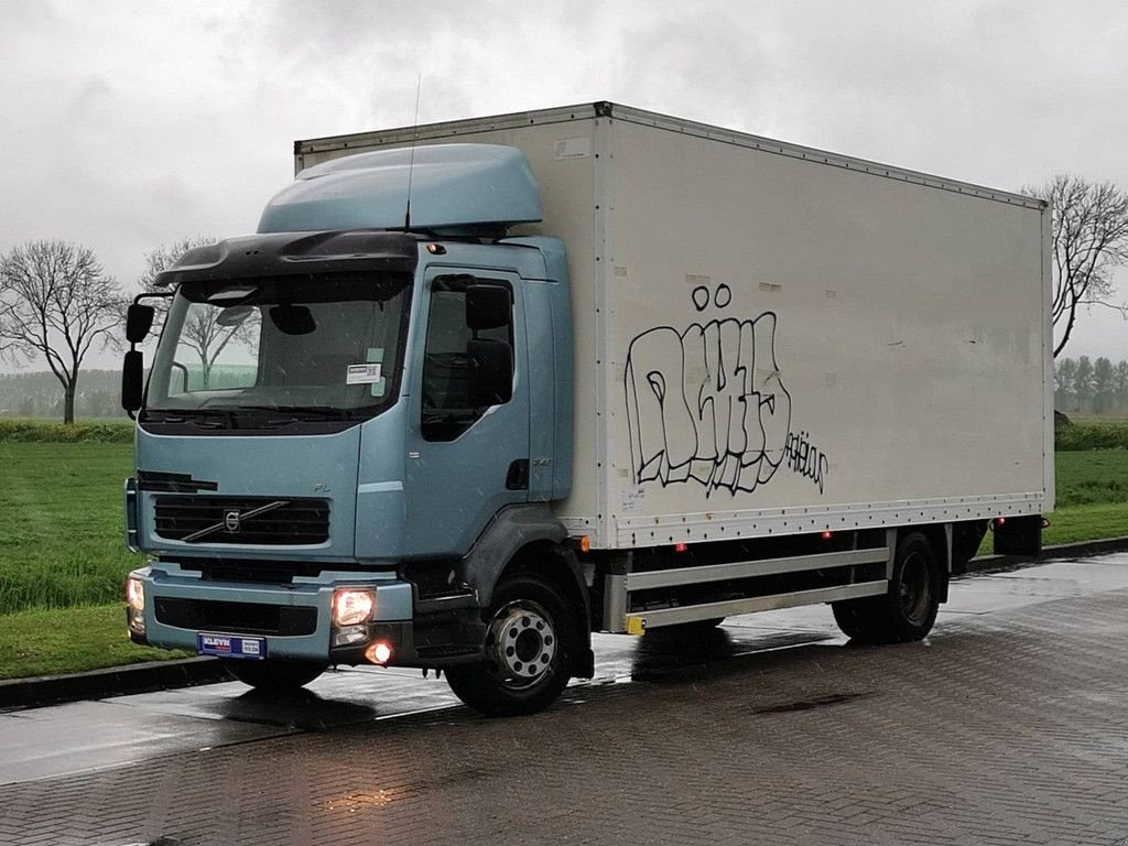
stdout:
[[317,631],[317,609],[258,602],[157,597],[157,622],[196,632],[309,635]]

